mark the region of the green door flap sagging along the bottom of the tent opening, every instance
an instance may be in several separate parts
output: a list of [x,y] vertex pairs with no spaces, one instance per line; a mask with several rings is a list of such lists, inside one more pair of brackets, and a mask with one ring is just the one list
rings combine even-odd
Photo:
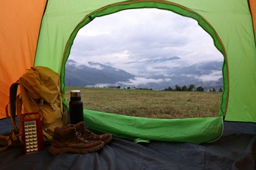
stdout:
[[211,142],[223,131],[222,117],[152,119],[85,110],[84,120],[93,131],[112,133],[135,142],[144,140],[188,143]]

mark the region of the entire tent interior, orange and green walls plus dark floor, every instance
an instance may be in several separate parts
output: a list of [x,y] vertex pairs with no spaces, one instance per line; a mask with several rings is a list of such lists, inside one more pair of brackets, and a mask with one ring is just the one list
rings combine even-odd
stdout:
[[[216,118],[151,119],[84,110],[87,126],[114,135],[92,154],[0,152],[1,169],[255,169],[256,3],[253,0],[0,2],[0,133],[12,82],[32,66],[56,71],[65,92],[65,63],[77,31],[94,18],[156,8],[193,18],[223,54],[223,94]],[[217,140],[219,139],[219,140]],[[137,144],[131,141],[148,141]],[[212,142],[212,143],[206,143]]]

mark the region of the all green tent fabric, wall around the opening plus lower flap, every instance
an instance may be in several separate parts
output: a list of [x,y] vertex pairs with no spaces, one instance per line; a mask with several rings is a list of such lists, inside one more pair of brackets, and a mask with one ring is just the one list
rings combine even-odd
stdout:
[[[217,139],[221,135],[223,117],[226,121],[256,122],[256,50],[248,1],[48,1],[41,22],[34,65],[50,67],[60,73],[62,90],[65,92],[64,66],[79,29],[96,17],[120,10],[139,8],[169,10],[194,18],[213,37],[216,48],[224,56],[224,91],[219,117],[180,120],[133,118],[131,120],[131,117],[127,116],[113,116],[108,113],[85,110],[85,119],[92,128],[101,128],[102,132],[111,131],[128,139],[202,143]],[[109,122],[112,122],[111,127]],[[127,122],[132,122],[133,125],[128,125]],[[120,127],[120,124],[125,126],[121,128],[122,131],[114,129],[114,127]],[[133,129],[136,128],[135,125],[138,125],[137,129]],[[129,129],[129,127],[132,128]],[[137,133],[133,133],[134,131]],[[171,138],[163,134],[158,137],[149,136],[150,133],[158,131],[169,131],[168,135]],[[146,136],[139,133],[144,133]]]

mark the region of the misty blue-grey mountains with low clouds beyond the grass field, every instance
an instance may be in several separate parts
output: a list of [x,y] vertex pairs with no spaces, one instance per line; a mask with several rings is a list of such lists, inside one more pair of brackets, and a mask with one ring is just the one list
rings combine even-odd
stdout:
[[[176,65],[175,65],[175,64]],[[202,87],[223,86],[222,61],[187,64],[179,57],[142,59],[124,63],[124,68],[137,66],[140,75],[127,73],[102,63],[79,64],[69,59],[66,63],[65,83],[67,86],[121,86],[121,88],[152,88],[162,90],[175,85],[194,84]],[[169,65],[173,65],[172,67]],[[149,71],[147,68],[151,68]]]

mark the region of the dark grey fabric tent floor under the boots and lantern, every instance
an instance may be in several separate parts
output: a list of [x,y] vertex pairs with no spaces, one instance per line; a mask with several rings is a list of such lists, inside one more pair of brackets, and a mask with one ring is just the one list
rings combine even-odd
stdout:
[[[223,136],[213,143],[138,144],[114,138],[98,152],[56,156],[47,144],[28,155],[22,146],[12,146],[0,152],[1,169],[256,169],[256,125],[242,124],[245,131],[239,132],[238,126],[225,124]],[[9,120],[0,120],[0,133],[11,127]]]

